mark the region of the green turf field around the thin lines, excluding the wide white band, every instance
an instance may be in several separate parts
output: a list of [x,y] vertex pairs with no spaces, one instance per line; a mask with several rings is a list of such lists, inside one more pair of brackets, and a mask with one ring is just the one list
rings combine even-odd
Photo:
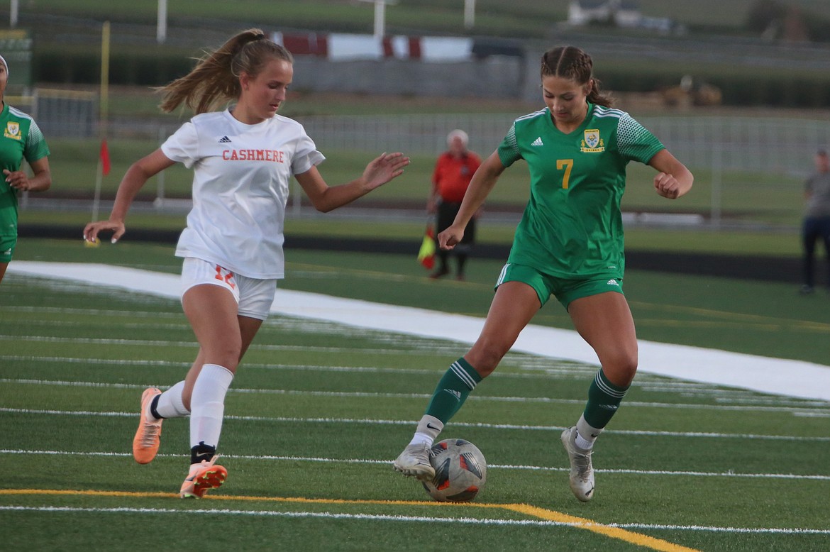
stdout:
[[[178,271],[168,246],[22,240],[17,251]],[[473,261],[469,281],[435,282],[410,257],[287,256],[288,289],[471,315],[484,314],[498,266]],[[178,381],[196,351],[178,301],[14,274],[0,289],[7,550],[194,539],[203,550],[830,547],[826,402],[640,374],[598,442],[597,496],[582,504],[558,435],[579,417],[595,367],[511,353],[442,434],[481,448],[486,489],[469,506],[439,505],[390,462],[464,346],[283,316],[263,326],[228,393],[227,483],[180,501],[186,421],[165,424],[148,466],[129,453],[142,389]],[[627,296],[642,339],[827,358],[830,297],[641,272],[628,274]],[[568,324],[557,305],[535,322]]]

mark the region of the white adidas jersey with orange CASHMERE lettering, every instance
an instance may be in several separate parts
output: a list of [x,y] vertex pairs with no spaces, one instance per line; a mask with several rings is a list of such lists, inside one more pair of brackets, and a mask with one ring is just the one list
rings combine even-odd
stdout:
[[288,183],[325,157],[305,129],[281,115],[256,125],[229,110],[196,115],[161,146],[193,167],[193,209],[176,256],[194,256],[249,278],[285,276]]

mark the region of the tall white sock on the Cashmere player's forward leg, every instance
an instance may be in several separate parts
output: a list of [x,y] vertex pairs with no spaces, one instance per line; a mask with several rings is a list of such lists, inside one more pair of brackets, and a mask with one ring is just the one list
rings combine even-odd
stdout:
[[217,447],[225,413],[225,393],[233,373],[218,364],[204,364],[190,398],[190,447],[203,442]]

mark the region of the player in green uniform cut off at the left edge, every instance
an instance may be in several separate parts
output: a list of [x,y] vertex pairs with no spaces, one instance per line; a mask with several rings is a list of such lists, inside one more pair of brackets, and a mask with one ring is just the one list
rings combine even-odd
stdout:
[[[6,103],[8,64],[0,56],[0,168],[5,178],[0,182],[0,281],[6,275],[17,245],[18,190],[38,192],[51,186],[49,147],[35,120]],[[21,170],[26,159],[34,176]]]

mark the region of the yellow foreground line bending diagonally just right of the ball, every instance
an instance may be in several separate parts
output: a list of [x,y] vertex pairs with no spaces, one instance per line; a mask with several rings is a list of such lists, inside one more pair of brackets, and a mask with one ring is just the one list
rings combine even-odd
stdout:
[[[0,496],[33,496],[33,495],[63,495],[63,496],[126,496],[132,498],[178,498],[178,494],[170,492],[128,492],[128,491],[73,491],[61,489],[0,489]],[[576,529],[585,529],[611,537],[612,539],[624,540],[632,545],[643,546],[652,550],[662,552],[696,552],[695,549],[675,545],[667,540],[656,539],[648,535],[641,535],[632,531],[610,527],[596,521],[563,514],[556,510],[547,510],[538,506],[527,504],[486,504],[476,502],[433,502],[433,501],[369,501],[369,500],[344,500],[337,498],[301,498],[294,496],[232,496],[232,495],[209,495],[203,500],[209,501],[249,501],[249,502],[291,502],[295,504],[339,504],[339,505],[377,505],[377,506],[440,506],[440,507],[466,507],[466,508],[488,508],[496,510],[510,510],[523,515],[538,517],[547,521],[554,521],[570,525]]]

